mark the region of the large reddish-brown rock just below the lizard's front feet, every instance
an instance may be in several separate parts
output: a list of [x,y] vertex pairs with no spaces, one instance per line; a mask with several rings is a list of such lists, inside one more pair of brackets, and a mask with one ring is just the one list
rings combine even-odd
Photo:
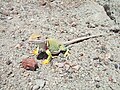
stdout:
[[38,68],[38,64],[35,61],[34,58],[25,58],[22,60],[22,66],[24,69],[26,70],[36,70],[36,68]]

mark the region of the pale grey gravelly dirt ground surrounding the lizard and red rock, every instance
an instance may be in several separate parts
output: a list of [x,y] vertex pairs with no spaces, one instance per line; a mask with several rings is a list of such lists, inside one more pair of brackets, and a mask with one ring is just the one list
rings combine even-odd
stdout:
[[[21,67],[32,33],[61,41],[106,34],[69,46],[36,71]],[[35,56],[34,56],[35,57]],[[0,0],[0,90],[119,90],[120,0]]]

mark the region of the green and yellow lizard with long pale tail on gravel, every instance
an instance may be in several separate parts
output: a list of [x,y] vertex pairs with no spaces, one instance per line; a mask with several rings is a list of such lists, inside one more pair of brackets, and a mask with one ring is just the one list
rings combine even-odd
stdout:
[[54,38],[43,39],[38,36],[39,35],[36,35],[36,37],[34,37],[34,40],[29,40],[29,42],[38,45],[37,48],[33,50],[33,54],[36,55],[37,58],[40,57],[40,59],[46,56],[47,58],[42,62],[42,64],[48,64],[51,61],[53,55],[57,55],[60,52],[65,52],[64,56],[67,56],[69,54],[67,46],[74,43],[82,42],[90,38],[101,37],[104,36],[104,34],[78,37],[76,39],[65,42],[60,42],[59,40],[56,40]]

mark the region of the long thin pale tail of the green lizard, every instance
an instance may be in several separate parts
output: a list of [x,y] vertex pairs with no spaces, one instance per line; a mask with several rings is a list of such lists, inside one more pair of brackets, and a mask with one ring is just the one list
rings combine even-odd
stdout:
[[104,36],[104,35],[103,34],[99,34],[99,35],[91,35],[91,36],[86,36],[86,37],[80,37],[80,38],[76,38],[76,39],[73,39],[73,40],[70,40],[70,41],[63,42],[63,44],[65,46],[68,46],[70,44],[82,42],[82,41],[90,39],[90,38],[96,38],[96,37],[101,37],[101,36]]

